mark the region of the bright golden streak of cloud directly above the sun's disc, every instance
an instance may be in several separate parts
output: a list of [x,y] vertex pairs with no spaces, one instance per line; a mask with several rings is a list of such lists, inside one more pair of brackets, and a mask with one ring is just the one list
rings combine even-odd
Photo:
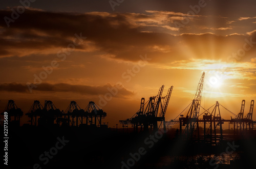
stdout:
[[190,59],[167,64],[151,64],[159,69],[201,70],[208,77],[225,79],[255,80],[256,64],[251,62],[228,63],[216,60]]

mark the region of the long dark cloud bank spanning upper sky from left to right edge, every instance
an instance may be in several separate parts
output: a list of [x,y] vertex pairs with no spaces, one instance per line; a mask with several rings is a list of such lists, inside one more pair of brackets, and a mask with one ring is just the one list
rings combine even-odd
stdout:
[[[107,12],[81,14],[27,9],[17,20],[10,23],[10,27],[6,26],[4,19],[0,21],[0,51],[2,57],[49,54],[51,49],[52,53],[56,53],[58,51],[56,48],[67,48],[75,38],[74,34],[81,33],[88,39],[76,49],[85,52],[93,49],[114,59],[137,61],[140,59],[139,55],[147,53],[153,58],[152,62],[166,61],[166,59],[182,60],[189,57],[184,53],[187,49],[191,49],[194,57],[199,59],[209,55],[214,57],[212,59],[222,59],[223,55],[227,57],[228,54],[243,47],[244,39],[248,38],[246,32],[236,36],[207,34],[209,31],[232,31],[233,27],[227,26],[228,19],[225,17],[220,17],[225,23],[222,27],[203,26],[202,23],[199,24],[199,20],[200,18],[205,20],[207,17],[201,15],[190,18],[190,23],[180,29],[181,33],[186,32],[185,34],[175,35],[179,29],[173,25],[173,22],[181,21],[182,13],[147,12],[147,14]],[[11,10],[1,10],[0,18],[11,16],[11,13]],[[197,26],[193,24],[196,22]],[[190,30],[191,27],[196,28]],[[201,33],[197,33],[198,31]],[[251,31],[253,30],[248,32]],[[254,37],[254,33],[251,33],[251,36]],[[225,48],[224,53],[220,53],[226,45],[229,45],[229,48]],[[250,50],[252,51],[254,50]]]

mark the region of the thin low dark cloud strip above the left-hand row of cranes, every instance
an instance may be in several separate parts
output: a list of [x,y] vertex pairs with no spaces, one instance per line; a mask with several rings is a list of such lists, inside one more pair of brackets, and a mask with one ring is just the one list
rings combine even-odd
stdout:
[[[114,89],[115,88],[115,89]],[[81,95],[105,95],[106,93],[110,93],[110,91],[114,91],[118,89],[116,85],[110,85],[109,83],[104,86],[86,86],[86,85],[70,85],[67,83],[41,83],[37,86],[37,88],[33,88],[33,91],[36,92],[72,92],[78,93]],[[0,84],[0,91],[8,91],[8,92],[19,92],[19,93],[29,93],[28,87],[23,83],[2,83]],[[127,97],[134,95],[133,92],[125,89],[117,90],[117,95],[113,95],[113,97]]]

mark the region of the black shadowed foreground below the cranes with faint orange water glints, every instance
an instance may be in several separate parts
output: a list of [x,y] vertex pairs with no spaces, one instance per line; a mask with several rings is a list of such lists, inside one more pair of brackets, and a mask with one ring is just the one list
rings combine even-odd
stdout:
[[27,126],[9,128],[4,168],[256,168],[255,153],[255,134],[212,145],[188,141],[175,130],[134,134]]

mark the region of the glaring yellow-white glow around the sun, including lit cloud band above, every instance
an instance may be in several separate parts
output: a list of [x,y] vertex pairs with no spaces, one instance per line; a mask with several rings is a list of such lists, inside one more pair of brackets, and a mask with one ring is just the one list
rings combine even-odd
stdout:
[[[250,96],[250,87],[244,80],[256,79],[255,63],[232,62],[221,60],[190,59],[174,61],[169,64],[152,64],[152,67],[162,70],[204,71],[204,94],[208,98]],[[195,80],[196,82],[196,80]],[[195,91],[181,89],[181,92],[194,94]]]

